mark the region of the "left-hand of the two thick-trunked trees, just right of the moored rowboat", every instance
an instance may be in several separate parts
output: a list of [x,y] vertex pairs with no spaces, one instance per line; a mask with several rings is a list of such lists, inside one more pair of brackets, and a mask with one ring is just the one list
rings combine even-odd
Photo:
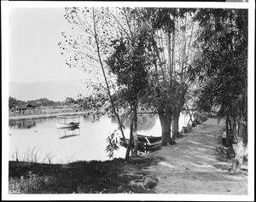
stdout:
[[[157,109],[162,130],[161,145],[166,146],[168,142],[170,144],[174,143],[171,136],[174,100],[171,35],[174,30],[172,16],[176,13],[176,9],[144,8],[140,13],[148,21],[151,33],[151,38],[148,39],[153,50],[152,56],[154,59],[154,71],[151,72],[150,79],[151,89],[154,90],[151,91],[148,101]],[[167,41],[167,46],[165,41]]]

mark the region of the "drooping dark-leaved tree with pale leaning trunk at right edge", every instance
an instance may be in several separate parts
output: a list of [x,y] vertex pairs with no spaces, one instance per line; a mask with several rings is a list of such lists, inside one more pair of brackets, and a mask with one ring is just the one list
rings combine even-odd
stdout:
[[231,172],[240,170],[247,146],[247,18],[246,9],[199,9],[198,53],[189,68],[203,84],[201,102],[218,105],[219,116],[231,120],[237,144]]

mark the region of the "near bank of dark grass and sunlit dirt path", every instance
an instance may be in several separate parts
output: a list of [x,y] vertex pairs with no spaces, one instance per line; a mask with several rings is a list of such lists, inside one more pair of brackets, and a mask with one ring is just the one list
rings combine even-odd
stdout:
[[[247,194],[247,162],[241,173],[230,175],[231,159],[218,151],[224,120],[207,118],[177,144],[136,159],[40,164],[9,161],[9,193],[171,193]],[[156,176],[154,188],[138,183]],[[72,177],[71,177],[72,176]],[[36,187],[31,182],[37,184]],[[172,186],[175,184],[175,186]]]

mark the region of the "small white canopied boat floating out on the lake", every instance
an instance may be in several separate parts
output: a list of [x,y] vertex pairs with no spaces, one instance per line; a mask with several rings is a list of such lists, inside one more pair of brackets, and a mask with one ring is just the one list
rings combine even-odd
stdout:
[[79,127],[80,123],[76,122],[77,120],[79,120],[79,116],[58,116],[56,128],[65,129]]

